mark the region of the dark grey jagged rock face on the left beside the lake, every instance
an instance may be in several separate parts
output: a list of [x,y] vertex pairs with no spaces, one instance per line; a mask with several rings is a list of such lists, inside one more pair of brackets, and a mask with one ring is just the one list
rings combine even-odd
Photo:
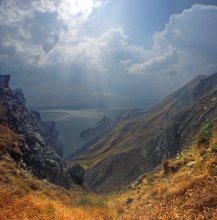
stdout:
[[27,169],[39,178],[64,187],[77,183],[77,176],[82,184],[83,169],[68,167],[61,157],[63,148],[54,122],[42,122],[38,112],[29,112],[21,90],[0,88],[0,107],[5,112],[1,123],[23,136],[22,164]]

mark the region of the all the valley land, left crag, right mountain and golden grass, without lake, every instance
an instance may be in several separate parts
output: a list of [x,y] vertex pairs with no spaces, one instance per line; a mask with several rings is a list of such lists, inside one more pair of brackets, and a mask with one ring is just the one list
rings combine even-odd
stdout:
[[214,219],[216,80],[197,77],[149,111],[104,117],[69,161],[55,125],[1,84],[0,219]]

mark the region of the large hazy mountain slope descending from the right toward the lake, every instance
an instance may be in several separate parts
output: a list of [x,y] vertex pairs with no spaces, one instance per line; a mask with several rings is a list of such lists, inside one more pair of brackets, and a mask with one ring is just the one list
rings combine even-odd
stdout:
[[217,117],[217,73],[201,75],[145,112],[123,114],[115,127],[73,155],[97,192],[128,185],[173,157]]

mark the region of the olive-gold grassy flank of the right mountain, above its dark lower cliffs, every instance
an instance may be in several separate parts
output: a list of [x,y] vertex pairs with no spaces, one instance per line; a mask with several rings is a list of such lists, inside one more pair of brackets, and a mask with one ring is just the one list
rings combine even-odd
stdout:
[[[181,96],[179,93],[191,93],[193,88],[200,83],[201,79],[205,78],[206,76],[198,76],[180,90],[163,99],[162,102],[146,113],[129,114],[128,116],[126,114],[124,120],[121,120],[113,131],[77,154],[71,163],[79,163],[88,170],[106,158],[123,152],[130,152],[132,149],[148,147],[147,140],[150,140],[150,137],[158,133],[162,133],[161,128],[166,129],[167,125],[171,124],[171,120],[165,119],[166,115],[177,115],[178,110],[180,110],[180,106],[174,106],[174,103]],[[208,103],[205,103],[205,106]],[[202,115],[199,110],[197,114]]]

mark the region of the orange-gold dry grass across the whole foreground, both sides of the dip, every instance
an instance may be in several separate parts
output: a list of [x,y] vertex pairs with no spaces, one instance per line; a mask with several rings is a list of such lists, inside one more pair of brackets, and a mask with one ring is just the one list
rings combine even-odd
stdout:
[[22,137],[0,126],[0,220],[215,219],[216,145],[215,129],[208,142],[195,143],[128,190],[99,196],[23,170],[10,156],[19,156]]

